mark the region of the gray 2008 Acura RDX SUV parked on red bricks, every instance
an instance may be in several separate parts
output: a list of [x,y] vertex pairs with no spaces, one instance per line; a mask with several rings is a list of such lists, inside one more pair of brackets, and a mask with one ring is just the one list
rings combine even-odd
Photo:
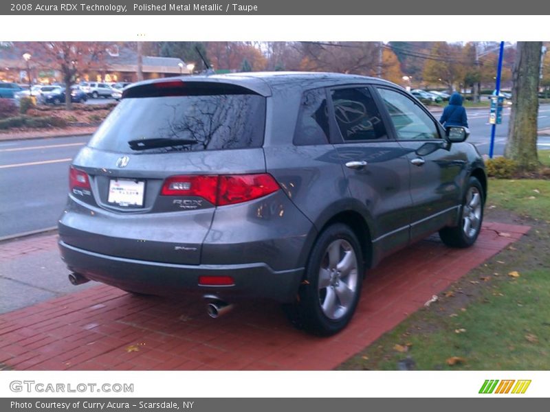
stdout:
[[487,179],[466,137],[375,78],[140,82],[74,159],[61,253],[75,284],[276,299],[333,334],[384,256],[475,242]]

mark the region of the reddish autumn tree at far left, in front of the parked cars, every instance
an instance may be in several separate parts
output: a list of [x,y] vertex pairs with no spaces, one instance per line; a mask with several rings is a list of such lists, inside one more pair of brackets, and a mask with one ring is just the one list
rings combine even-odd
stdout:
[[71,86],[82,73],[103,68],[109,45],[104,42],[48,41],[32,42],[26,46],[43,67],[61,72],[65,84],[65,107],[71,110]]

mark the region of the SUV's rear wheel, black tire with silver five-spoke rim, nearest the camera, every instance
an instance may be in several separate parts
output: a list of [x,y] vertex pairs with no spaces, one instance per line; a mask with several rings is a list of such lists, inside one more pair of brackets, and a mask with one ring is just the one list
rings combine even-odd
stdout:
[[[333,256],[338,258],[334,260],[329,251],[335,251]],[[321,279],[322,274],[325,279]],[[311,249],[298,302],[287,306],[291,321],[321,336],[340,332],[353,317],[363,275],[363,253],[355,233],[342,223],[327,227]]]

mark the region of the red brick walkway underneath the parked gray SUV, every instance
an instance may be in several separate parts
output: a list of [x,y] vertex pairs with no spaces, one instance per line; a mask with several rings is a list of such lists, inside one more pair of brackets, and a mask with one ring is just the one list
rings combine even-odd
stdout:
[[295,330],[269,302],[238,304],[214,320],[199,299],[133,297],[98,286],[1,315],[0,363],[33,370],[332,369],[528,230],[487,223],[470,249],[430,238],[397,253],[369,273],[353,321],[328,339]]

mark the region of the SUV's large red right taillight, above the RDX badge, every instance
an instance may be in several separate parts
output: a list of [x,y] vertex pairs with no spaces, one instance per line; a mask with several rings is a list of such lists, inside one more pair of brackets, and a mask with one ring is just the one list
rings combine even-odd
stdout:
[[162,187],[163,196],[199,196],[212,205],[234,205],[252,201],[279,190],[271,174],[222,176],[172,176]]

